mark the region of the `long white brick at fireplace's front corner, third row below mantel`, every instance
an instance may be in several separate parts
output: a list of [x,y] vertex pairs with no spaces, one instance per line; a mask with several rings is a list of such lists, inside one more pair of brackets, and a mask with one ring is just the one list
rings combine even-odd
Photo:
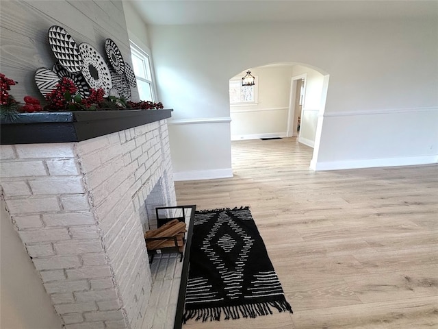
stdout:
[[29,185],[34,195],[85,193],[80,177],[29,180]]

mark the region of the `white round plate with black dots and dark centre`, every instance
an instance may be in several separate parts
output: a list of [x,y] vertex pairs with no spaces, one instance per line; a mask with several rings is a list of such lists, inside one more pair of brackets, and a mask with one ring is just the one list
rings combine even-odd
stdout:
[[105,96],[108,95],[112,88],[110,69],[108,69],[105,60],[92,45],[81,43],[79,51],[83,59],[82,75],[91,88],[102,88]]

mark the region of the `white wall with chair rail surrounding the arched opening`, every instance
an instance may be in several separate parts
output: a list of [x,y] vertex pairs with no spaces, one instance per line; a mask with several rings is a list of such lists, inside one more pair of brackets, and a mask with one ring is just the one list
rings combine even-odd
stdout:
[[[436,21],[426,19],[155,25],[150,36],[160,99],[175,109],[174,120],[183,119],[188,125],[194,119],[229,117],[229,78],[247,67],[297,62],[329,74],[324,115],[331,117],[318,121],[312,162],[318,169],[318,164],[348,166],[352,160],[368,165],[363,160],[376,156],[437,162],[437,28]],[[390,112],[391,118],[381,116],[379,125],[368,124],[376,111]],[[416,115],[418,111],[422,114]],[[360,121],[357,112],[362,113]],[[176,173],[216,169],[216,161],[231,167],[229,123],[221,125],[215,141],[226,147],[213,155],[211,147],[201,142],[205,136],[211,138],[209,123],[197,138],[185,138],[170,126]],[[353,129],[347,133],[339,127]],[[393,138],[394,130],[402,134]],[[363,138],[370,132],[378,139]],[[354,154],[351,145],[358,148]],[[195,165],[190,156],[174,157],[181,148],[203,164]],[[417,162],[419,150],[423,158]]]

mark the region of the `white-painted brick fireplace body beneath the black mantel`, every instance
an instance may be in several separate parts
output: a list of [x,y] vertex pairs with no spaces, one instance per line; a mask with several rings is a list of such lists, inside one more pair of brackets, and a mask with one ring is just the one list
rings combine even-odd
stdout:
[[176,204],[166,120],[1,145],[1,187],[65,328],[141,328],[152,281],[143,232],[156,227],[151,208]]

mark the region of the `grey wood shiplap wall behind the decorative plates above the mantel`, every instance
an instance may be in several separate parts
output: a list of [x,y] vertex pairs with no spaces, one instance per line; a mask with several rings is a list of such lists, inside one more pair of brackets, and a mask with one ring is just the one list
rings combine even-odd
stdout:
[[[78,45],[88,42],[103,56],[105,39],[111,38],[131,64],[121,1],[1,1],[0,71],[18,82],[10,91],[17,101],[25,95],[43,100],[34,73],[56,62],[47,39],[51,25],[64,27]],[[131,92],[138,100],[136,88]]]

